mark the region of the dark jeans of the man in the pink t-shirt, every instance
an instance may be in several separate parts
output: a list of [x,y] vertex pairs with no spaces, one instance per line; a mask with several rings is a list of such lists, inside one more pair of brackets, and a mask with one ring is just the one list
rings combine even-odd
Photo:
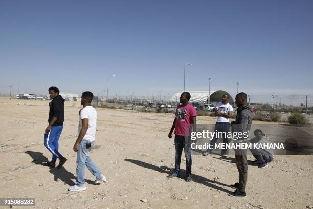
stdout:
[[186,176],[191,174],[191,139],[190,136],[175,135],[175,172],[180,173],[181,158],[184,148],[186,157]]

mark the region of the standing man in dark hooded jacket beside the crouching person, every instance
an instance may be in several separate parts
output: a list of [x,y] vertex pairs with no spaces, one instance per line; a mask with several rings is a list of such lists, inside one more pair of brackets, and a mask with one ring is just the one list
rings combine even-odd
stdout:
[[[247,143],[249,140],[248,132],[251,128],[253,109],[247,105],[247,94],[244,92],[236,95],[236,105],[238,107],[237,117],[236,121],[232,122],[232,132],[242,133],[242,137],[234,142],[240,145],[240,143]],[[239,183],[231,185],[236,191],[230,196],[245,197],[245,185],[248,178],[247,149],[235,149],[235,158],[239,172]]]

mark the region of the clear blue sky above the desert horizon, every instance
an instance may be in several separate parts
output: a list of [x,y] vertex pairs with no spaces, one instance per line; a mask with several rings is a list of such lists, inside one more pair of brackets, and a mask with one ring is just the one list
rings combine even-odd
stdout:
[[313,94],[313,1],[0,1],[0,93]]

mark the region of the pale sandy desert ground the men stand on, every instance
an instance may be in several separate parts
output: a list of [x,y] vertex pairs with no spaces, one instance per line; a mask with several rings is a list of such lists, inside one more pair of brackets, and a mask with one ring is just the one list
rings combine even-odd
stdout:
[[[173,138],[167,137],[173,114],[113,109],[97,109],[99,148],[91,154],[108,181],[94,185],[86,170],[87,190],[68,192],[76,178],[73,145],[80,108],[78,102],[65,102],[59,150],[68,161],[57,170],[42,166],[51,159],[43,145],[48,101],[0,98],[0,197],[36,198],[33,208],[62,209],[306,208],[313,204],[312,155],[276,155],[266,169],[249,166],[247,197],[234,198],[227,195],[233,191],[229,185],[238,181],[234,156],[195,154],[192,182],[185,182],[185,170],[181,178],[168,179],[175,157]],[[197,123],[214,124],[215,118],[199,116]],[[185,161],[181,167],[185,169]]]

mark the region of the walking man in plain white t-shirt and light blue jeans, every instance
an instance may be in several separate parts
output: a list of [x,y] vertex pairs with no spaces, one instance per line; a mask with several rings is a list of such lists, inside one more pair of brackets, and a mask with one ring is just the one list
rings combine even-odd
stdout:
[[90,152],[94,147],[97,128],[97,111],[91,106],[94,95],[91,92],[83,92],[81,105],[84,107],[79,111],[78,138],[73,150],[77,152],[76,160],[76,185],[71,186],[69,191],[76,192],[85,190],[85,166],[96,177],[95,184],[106,181],[98,166],[90,158]]

